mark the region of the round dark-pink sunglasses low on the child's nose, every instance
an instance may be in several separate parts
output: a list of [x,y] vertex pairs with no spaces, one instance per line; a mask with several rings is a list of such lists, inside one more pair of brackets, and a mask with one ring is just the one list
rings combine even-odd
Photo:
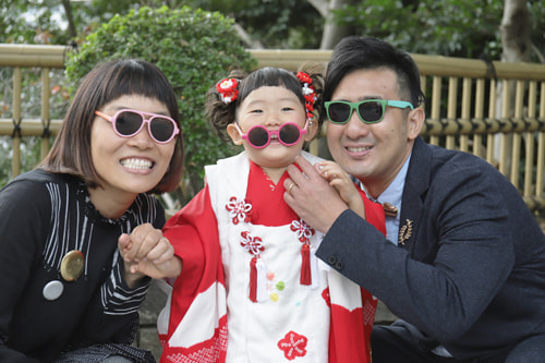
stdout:
[[286,146],[292,146],[299,143],[301,137],[306,134],[306,126],[308,125],[308,120],[305,123],[305,126],[301,129],[294,122],[286,122],[280,126],[280,129],[276,131],[269,131],[267,128],[262,125],[255,125],[250,128],[246,134],[242,133],[239,124],[235,122],[234,125],[237,130],[240,132],[242,140],[247,141],[247,143],[255,148],[264,148],[270,144],[270,140],[272,135],[277,136],[277,140],[280,144]]

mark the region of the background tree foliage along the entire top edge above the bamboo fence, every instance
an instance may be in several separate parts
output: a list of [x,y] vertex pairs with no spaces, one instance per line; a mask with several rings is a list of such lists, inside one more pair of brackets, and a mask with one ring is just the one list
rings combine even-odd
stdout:
[[[50,44],[70,40],[63,2],[68,0],[0,0],[0,41]],[[337,21],[360,35],[374,35],[411,52],[499,59],[499,24],[505,0],[373,0],[352,1]],[[144,5],[219,11],[234,19],[265,48],[317,48],[324,20],[301,0],[93,0],[71,1],[77,34],[86,34],[116,14]],[[545,2],[529,0],[532,40],[545,53]],[[25,16],[23,16],[25,14]],[[61,22],[59,22],[59,19]],[[64,24],[63,26],[61,26]],[[535,59],[538,61],[537,59]]]

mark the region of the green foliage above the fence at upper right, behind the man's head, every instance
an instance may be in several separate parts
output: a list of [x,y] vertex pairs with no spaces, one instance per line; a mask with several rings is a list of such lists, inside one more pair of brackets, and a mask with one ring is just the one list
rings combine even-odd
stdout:
[[[529,1],[532,40],[545,51],[545,3]],[[504,0],[374,0],[336,12],[359,35],[383,38],[413,53],[499,60]],[[536,61],[537,58],[535,58]]]

